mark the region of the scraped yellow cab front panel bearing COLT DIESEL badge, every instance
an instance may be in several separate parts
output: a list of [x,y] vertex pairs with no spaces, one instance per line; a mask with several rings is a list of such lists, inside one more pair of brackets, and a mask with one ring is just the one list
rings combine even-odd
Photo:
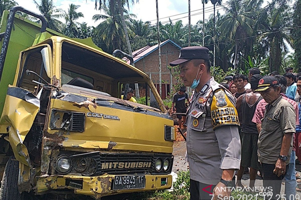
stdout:
[[[63,147],[107,149],[110,142],[108,139],[110,139],[112,142],[116,142],[113,150],[172,153],[173,142],[164,140],[164,125],[173,126],[172,120],[166,118],[158,119],[157,116],[112,109],[110,107],[97,106],[95,108],[93,105],[88,105],[87,109],[84,106],[74,106],[74,104],[74,102],[52,99],[50,107],[51,109],[84,113],[90,111],[104,113],[118,116],[120,120],[86,116],[84,134],[78,132],[67,134],[65,132],[63,136],[68,137],[68,140],[63,141]],[[154,126],[153,123],[145,124],[145,121],[153,121],[157,125]],[[129,130],[124,129],[123,124],[127,124]],[[54,134],[57,130],[48,128],[47,132]]]

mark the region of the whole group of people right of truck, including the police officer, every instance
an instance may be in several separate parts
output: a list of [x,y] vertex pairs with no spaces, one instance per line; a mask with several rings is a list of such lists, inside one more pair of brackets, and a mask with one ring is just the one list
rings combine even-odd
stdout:
[[184,85],[193,89],[187,111],[185,88],[174,95],[172,106],[186,113],[178,118],[186,117],[190,198],[229,199],[229,188],[247,187],[241,179],[249,173],[249,190],[259,175],[262,190],[272,191],[266,199],[283,198],[282,182],[285,199],[295,199],[301,184],[295,169],[301,160],[301,73],[288,68],[283,75],[274,71],[262,76],[254,67],[248,76],[226,76],[217,83],[210,76],[208,52],[185,47],[169,63],[179,65]]

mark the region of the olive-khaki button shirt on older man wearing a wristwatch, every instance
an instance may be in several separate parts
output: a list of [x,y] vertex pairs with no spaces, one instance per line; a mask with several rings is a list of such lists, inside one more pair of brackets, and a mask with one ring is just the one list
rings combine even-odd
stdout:
[[[276,164],[280,155],[282,139],[286,133],[296,132],[296,112],[287,100],[280,96],[272,104],[265,106],[265,115],[262,119],[258,137],[258,159],[261,163]],[[290,154],[293,149],[293,136],[286,164],[290,163]]]

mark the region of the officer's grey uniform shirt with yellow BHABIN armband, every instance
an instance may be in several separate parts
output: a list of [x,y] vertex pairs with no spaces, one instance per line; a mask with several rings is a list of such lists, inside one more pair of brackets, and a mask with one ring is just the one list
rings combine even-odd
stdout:
[[240,168],[235,98],[212,77],[199,93],[194,92],[186,114],[190,178],[218,184],[222,169]]

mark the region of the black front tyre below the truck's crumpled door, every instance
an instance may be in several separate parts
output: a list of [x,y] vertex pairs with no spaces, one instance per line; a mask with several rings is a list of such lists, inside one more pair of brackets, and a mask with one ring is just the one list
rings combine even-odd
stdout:
[[0,190],[0,200],[22,200],[18,189],[19,162],[11,156],[5,166]]

